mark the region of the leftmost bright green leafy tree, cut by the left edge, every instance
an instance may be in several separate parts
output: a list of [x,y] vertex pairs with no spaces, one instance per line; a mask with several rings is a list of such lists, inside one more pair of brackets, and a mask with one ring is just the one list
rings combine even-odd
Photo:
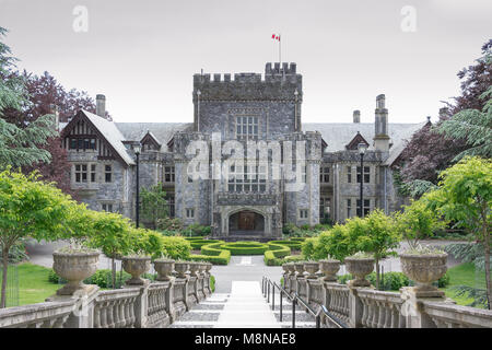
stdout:
[[77,203],[52,184],[11,172],[0,173],[0,247],[2,249],[2,287],[0,307],[7,302],[9,250],[21,238],[55,241],[67,235],[70,214]]

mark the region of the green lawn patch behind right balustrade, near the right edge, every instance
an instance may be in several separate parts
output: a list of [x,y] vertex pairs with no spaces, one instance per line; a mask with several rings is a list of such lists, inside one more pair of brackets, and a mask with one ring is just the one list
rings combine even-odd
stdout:
[[449,285],[444,289],[446,296],[456,301],[458,305],[468,305],[473,300],[465,296],[456,296],[455,285],[468,285],[477,289],[485,289],[485,272],[477,271],[475,265],[470,262],[460,264],[447,270],[449,275]]

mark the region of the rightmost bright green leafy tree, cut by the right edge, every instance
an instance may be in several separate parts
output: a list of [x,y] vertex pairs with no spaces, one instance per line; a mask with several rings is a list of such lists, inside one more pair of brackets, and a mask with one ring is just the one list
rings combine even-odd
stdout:
[[492,161],[466,156],[440,174],[440,188],[424,198],[447,220],[472,233],[483,245],[488,306],[491,308],[490,229],[492,222]]

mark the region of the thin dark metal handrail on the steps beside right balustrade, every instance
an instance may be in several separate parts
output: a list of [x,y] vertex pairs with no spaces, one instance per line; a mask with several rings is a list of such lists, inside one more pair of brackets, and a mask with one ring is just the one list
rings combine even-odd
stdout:
[[280,291],[280,322],[282,322],[282,300],[283,294],[292,302],[292,328],[295,328],[295,305],[302,304],[306,311],[312,314],[316,319],[316,328],[321,327],[321,315],[325,315],[328,319],[331,320],[338,328],[349,328],[344,322],[340,318],[331,314],[325,305],[320,305],[317,312],[315,312],[308,303],[306,303],[296,292],[293,292],[292,295],[281,285],[272,282],[269,278],[263,277],[261,280],[261,293],[265,298],[267,298],[267,303],[270,303],[270,287],[272,288],[272,300],[271,300],[271,308],[274,311],[276,308],[276,288]]

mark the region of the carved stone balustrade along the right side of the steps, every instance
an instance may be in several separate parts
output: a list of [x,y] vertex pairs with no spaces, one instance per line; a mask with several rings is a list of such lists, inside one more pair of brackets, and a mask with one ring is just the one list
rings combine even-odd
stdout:
[[[419,298],[410,287],[385,292],[284,272],[283,288],[315,311],[325,305],[352,328],[492,328],[492,311],[459,306],[446,298]],[[328,317],[321,317],[321,325],[335,326]]]

